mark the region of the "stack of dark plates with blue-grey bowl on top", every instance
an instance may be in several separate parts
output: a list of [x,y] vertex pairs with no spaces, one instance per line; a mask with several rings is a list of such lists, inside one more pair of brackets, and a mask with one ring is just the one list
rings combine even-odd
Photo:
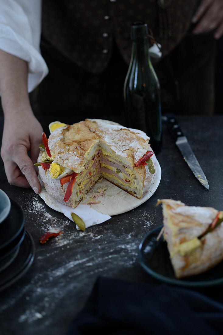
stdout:
[[0,291],[15,283],[32,264],[34,242],[21,208],[0,189]]

